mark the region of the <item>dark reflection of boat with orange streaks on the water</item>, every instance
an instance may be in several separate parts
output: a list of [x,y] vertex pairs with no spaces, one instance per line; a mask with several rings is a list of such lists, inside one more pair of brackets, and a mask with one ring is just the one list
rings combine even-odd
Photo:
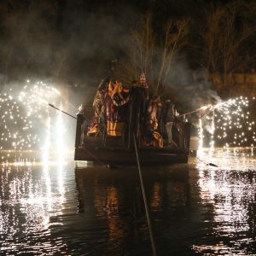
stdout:
[[[99,167],[87,167],[77,168],[75,174],[79,189],[79,212],[83,214],[84,221],[89,216],[90,221],[93,219],[96,230],[101,228],[107,232],[102,232],[104,242],[108,241],[105,253],[125,255],[135,250],[135,255],[150,255],[148,225],[137,168],[106,171]],[[170,167],[147,167],[143,176],[157,237],[159,232],[166,230],[164,226],[168,227],[170,220],[172,223],[178,212],[177,207],[180,204],[185,206],[188,202],[189,172],[185,166],[173,170]],[[173,213],[172,219],[165,218],[168,215],[166,211]],[[99,227],[96,219],[102,219],[103,226]],[[168,233],[169,230],[166,230],[165,236]]]

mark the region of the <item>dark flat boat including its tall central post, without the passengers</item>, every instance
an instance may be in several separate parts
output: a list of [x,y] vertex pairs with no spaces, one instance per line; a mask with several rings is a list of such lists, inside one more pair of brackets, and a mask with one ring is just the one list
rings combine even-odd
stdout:
[[[77,113],[74,160],[96,162],[102,165],[166,165],[187,163],[189,158],[191,123],[177,119],[182,127],[177,134],[178,146],[173,147],[163,139],[162,147],[153,147],[141,143],[142,90],[133,88],[127,103],[128,121],[124,132],[119,136],[110,136],[106,120],[102,121],[102,133],[87,136],[84,124],[90,123],[91,117],[84,112]],[[88,113],[89,111],[87,111]],[[85,125],[86,126],[86,125]]]

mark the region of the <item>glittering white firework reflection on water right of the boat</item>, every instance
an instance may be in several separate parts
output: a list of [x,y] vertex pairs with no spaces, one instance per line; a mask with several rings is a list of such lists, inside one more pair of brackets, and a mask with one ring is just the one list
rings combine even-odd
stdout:
[[[195,246],[195,251],[212,254],[245,255],[255,248],[256,165],[254,153],[247,150],[217,150],[201,154],[204,161],[214,160],[216,167],[198,163],[198,189],[201,203],[212,205],[211,245]],[[233,253],[232,253],[233,252]]]

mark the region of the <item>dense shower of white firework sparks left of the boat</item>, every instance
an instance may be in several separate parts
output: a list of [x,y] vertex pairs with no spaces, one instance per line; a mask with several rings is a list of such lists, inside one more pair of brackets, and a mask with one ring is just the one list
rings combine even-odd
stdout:
[[0,93],[0,149],[35,148],[40,143],[38,129],[44,128],[49,115],[48,102],[60,101],[60,96],[52,85],[43,82],[32,84],[30,81],[26,82],[18,96],[12,89],[9,93]]

